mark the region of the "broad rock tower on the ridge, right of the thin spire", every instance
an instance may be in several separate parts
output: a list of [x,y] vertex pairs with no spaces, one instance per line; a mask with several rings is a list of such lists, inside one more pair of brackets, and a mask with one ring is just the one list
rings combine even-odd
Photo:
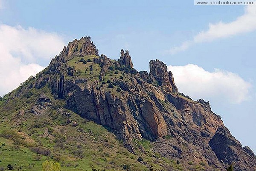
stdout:
[[164,87],[168,92],[178,92],[178,89],[174,83],[174,78],[172,77],[172,72],[167,71],[166,64],[158,59],[155,61],[151,60],[149,62],[149,69],[153,82],[157,81],[157,84]]

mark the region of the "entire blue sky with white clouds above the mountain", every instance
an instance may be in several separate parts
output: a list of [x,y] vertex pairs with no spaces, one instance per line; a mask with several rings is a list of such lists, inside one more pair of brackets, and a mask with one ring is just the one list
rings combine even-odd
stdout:
[[112,59],[128,49],[137,70],[162,60],[180,92],[210,101],[242,145],[256,151],[256,6],[0,0],[0,95],[82,36]]

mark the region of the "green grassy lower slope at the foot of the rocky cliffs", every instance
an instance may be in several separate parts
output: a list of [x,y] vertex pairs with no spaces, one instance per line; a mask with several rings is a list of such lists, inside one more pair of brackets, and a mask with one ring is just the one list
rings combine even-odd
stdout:
[[[60,163],[62,171],[90,171],[92,168],[114,171],[122,170],[123,165],[129,165],[131,170],[148,170],[149,166],[140,164],[138,157],[128,152],[103,126],[65,109],[64,101],[55,100],[47,86],[39,90],[22,88],[23,93],[17,95],[20,89],[0,101],[0,117],[3,118],[0,121],[0,168],[10,164],[14,170],[38,171],[49,161]],[[43,115],[35,115],[30,109],[41,93],[49,96],[52,106]],[[6,103],[9,98],[12,101]],[[73,121],[77,123],[75,126]],[[150,142],[143,140],[142,143],[150,147]],[[147,163],[159,160],[142,152],[137,155]]]

